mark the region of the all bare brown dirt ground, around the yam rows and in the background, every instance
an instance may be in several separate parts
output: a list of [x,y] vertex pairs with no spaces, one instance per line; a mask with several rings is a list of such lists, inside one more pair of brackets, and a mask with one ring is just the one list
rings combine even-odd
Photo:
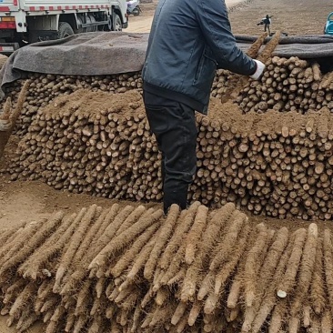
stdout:
[[[232,1],[227,2],[230,5]],[[143,13],[130,17],[128,32],[148,32],[156,2],[143,4]],[[229,14],[234,34],[260,35],[263,26],[257,23],[265,15],[272,17],[271,30],[281,30],[288,35],[322,34],[328,13],[333,11],[331,0],[253,0],[241,5]],[[0,162],[0,169],[8,165],[15,149],[15,138],[6,147],[5,158]],[[11,182],[8,176],[0,176],[0,229],[19,224],[25,220],[37,220],[59,209],[77,211],[96,203],[109,206],[111,200],[74,195],[67,191],[56,191],[40,182]],[[157,204],[158,206],[159,204]],[[254,223],[265,222],[271,226],[291,228],[308,224],[303,221],[277,221],[264,217],[251,217]],[[320,222],[319,227],[327,227],[329,222]],[[0,318],[0,333],[13,333],[15,329],[6,328],[6,318]],[[42,333],[45,329],[35,327],[31,333]]]

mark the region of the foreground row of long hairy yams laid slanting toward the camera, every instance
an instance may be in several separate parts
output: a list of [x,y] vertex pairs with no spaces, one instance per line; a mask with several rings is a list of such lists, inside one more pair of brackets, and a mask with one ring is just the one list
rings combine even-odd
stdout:
[[231,203],[58,211],[3,230],[0,252],[1,313],[18,332],[332,330],[329,229],[252,226]]

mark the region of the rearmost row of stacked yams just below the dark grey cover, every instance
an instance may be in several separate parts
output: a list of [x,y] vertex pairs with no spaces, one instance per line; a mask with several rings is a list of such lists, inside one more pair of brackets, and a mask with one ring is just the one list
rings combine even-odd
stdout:
[[[257,42],[262,42],[262,38]],[[256,43],[253,46],[257,46]],[[257,48],[254,48],[255,50],[249,50],[249,55],[256,56]],[[246,86],[239,89],[235,102],[243,113],[265,113],[274,109],[279,112],[296,111],[305,114],[318,111],[323,106],[333,110],[333,72],[323,74],[316,60],[307,61],[298,57],[286,59],[275,56],[265,62],[267,67],[261,80],[249,80]],[[113,76],[56,76],[38,73],[28,73],[27,76],[31,86],[16,126],[19,136],[25,135],[39,107],[47,106],[57,96],[70,95],[83,88],[110,93],[142,89],[140,72]],[[228,86],[234,84],[233,79],[235,75],[218,70],[211,96],[225,96]],[[14,102],[22,84],[20,80],[6,87],[7,96],[11,96]]]

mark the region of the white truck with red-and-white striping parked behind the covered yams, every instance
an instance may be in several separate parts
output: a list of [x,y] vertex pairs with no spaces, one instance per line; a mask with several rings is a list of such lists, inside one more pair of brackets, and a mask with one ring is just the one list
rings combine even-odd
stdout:
[[0,0],[0,53],[45,40],[128,25],[126,0]]

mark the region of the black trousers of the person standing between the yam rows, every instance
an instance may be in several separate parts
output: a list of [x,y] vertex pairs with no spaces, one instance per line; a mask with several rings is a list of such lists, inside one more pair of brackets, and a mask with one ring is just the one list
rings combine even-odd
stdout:
[[144,92],[146,117],[162,152],[164,210],[187,207],[188,186],[197,168],[197,126],[193,108]]

